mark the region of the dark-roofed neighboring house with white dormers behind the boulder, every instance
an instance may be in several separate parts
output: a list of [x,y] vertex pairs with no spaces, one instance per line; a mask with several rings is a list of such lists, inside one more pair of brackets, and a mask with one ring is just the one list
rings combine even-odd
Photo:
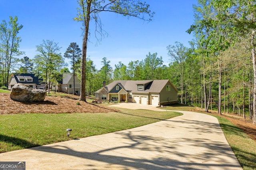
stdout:
[[17,83],[26,84],[34,89],[38,89],[42,86],[42,84],[40,84],[40,79],[38,79],[38,76],[30,73],[12,73],[8,82],[8,90],[11,90],[12,86]]

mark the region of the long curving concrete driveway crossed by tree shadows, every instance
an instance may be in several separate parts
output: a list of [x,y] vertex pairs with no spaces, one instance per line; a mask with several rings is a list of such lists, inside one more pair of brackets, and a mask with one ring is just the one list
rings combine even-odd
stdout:
[[215,117],[180,112],[133,129],[2,153],[0,161],[25,161],[26,170],[242,170]]

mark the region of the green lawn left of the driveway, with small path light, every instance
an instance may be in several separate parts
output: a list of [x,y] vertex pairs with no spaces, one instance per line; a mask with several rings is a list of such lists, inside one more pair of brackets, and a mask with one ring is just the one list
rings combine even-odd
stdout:
[[[130,129],[181,113],[120,109],[121,113],[0,115],[0,152]],[[66,129],[71,128],[70,138]]]

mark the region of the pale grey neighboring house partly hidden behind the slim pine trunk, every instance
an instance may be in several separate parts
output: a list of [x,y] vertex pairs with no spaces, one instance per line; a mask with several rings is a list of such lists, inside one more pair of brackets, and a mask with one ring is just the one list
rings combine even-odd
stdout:
[[80,81],[78,80],[78,77],[75,76],[75,87],[74,87],[73,74],[72,73],[64,73],[63,78],[62,78],[61,89],[60,89],[60,85],[59,85],[58,91],[68,93],[68,94],[73,94],[74,88],[75,88],[76,95],[80,95]]

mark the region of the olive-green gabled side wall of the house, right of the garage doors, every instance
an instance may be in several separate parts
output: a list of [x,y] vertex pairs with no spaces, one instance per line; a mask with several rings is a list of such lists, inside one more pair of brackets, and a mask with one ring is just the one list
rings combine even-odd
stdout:
[[[166,91],[166,86],[170,85],[170,91]],[[178,94],[172,84],[168,82],[160,92],[159,105],[168,105],[178,103]]]

